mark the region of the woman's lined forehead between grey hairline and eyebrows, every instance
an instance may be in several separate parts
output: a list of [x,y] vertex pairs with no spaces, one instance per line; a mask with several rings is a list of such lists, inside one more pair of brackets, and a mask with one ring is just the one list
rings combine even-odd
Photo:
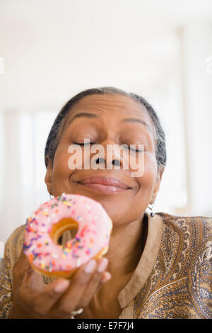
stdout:
[[100,118],[117,118],[123,119],[139,119],[143,120],[151,128],[153,136],[155,136],[155,128],[151,116],[148,114],[145,106],[133,98],[119,94],[93,94],[81,98],[71,106],[69,115],[67,116],[68,123],[77,113],[95,113]]

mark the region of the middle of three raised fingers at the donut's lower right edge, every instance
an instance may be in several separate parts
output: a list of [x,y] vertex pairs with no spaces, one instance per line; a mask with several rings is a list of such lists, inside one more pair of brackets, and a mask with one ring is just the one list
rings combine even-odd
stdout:
[[93,295],[97,293],[101,279],[102,274],[104,273],[105,269],[107,268],[108,260],[107,258],[102,258],[98,261],[98,267],[96,271],[93,273],[92,278],[90,278],[90,281],[88,283],[88,286],[86,287],[86,290],[84,291],[82,298],[80,300],[80,306],[79,307],[87,307],[90,303],[90,300],[93,298]]

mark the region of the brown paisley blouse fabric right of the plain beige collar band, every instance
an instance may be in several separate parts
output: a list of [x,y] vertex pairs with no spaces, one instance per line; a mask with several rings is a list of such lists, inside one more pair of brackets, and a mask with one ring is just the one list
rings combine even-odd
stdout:
[[138,294],[139,316],[211,318],[212,218],[156,215],[163,221],[160,249]]

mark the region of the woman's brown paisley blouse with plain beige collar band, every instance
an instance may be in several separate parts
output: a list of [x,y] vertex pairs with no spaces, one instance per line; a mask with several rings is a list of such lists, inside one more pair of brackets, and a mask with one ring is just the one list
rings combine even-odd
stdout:
[[[212,218],[145,216],[146,245],[133,276],[119,293],[119,318],[212,319]],[[0,271],[0,318],[7,318],[11,309],[13,264],[23,246],[24,228],[16,229],[6,242]]]

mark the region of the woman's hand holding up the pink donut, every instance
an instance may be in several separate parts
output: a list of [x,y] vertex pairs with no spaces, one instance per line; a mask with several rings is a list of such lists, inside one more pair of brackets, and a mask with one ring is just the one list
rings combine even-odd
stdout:
[[21,253],[13,268],[13,305],[10,318],[70,318],[73,310],[87,307],[102,283],[110,280],[107,259],[90,260],[71,281],[58,278],[45,285]]

